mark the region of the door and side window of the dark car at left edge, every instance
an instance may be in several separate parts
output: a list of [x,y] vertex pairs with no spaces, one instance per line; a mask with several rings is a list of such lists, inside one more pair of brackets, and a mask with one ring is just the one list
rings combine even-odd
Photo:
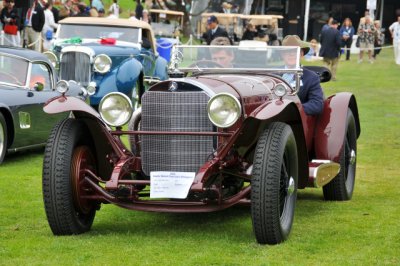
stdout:
[[15,91],[21,101],[13,112],[15,148],[45,143],[53,126],[67,116],[65,113],[49,115],[43,111],[47,100],[60,95],[54,91],[54,76],[46,63],[30,63],[27,84],[28,88]]

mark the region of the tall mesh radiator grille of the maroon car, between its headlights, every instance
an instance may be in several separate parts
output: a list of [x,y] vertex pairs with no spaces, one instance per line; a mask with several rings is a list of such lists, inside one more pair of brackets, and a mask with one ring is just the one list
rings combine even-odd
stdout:
[[[142,98],[143,131],[213,131],[204,92],[150,91]],[[151,171],[197,172],[213,152],[215,137],[143,135],[142,167]]]

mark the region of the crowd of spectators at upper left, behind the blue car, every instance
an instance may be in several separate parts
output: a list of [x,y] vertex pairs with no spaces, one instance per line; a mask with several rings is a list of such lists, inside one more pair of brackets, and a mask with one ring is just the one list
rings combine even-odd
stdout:
[[[145,0],[136,0],[136,9],[130,19],[149,21],[148,6]],[[155,1],[152,1],[153,3]],[[20,14],[14,0],[4,0],[0,12],[3,26],[3,44],[27,47],[32,50],[50,49],[58,21],[66,17],[106,17],[118,18],[122,9],[118,0],[105,10],[103,0],[91,0],[87,5],[83,0],[62,0],[58,7],[53,0],[34,0],[29,9]]]

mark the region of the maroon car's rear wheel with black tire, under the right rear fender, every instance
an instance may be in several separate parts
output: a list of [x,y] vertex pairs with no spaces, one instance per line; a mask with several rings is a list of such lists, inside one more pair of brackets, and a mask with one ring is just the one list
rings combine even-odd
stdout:
[[354,115],[347,111],[346,134],[340,154],[340,172],[323,187],[325,200],[344,201],[353,196],[356,177],[357,130]]

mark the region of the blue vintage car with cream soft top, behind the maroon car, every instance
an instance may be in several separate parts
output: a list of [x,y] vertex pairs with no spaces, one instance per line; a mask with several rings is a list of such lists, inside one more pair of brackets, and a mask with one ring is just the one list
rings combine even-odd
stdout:
[[92,106],[109,92],[138,98],[144,80],[167,78],[167,61],[158,55],[152,29],[143,21],[71,17],[60,21],[55,38],[47,56],[61,79],[95,88]]

